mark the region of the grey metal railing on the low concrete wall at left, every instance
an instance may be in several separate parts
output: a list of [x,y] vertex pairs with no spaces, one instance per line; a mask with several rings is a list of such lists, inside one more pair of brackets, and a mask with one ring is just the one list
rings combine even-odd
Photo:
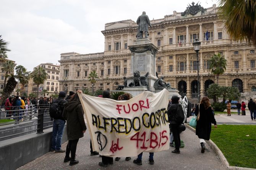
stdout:
[[52,127],[49,105],[26,105],[1,107],[0,141],[18,137],[28,133],[44,133],[44,129]]

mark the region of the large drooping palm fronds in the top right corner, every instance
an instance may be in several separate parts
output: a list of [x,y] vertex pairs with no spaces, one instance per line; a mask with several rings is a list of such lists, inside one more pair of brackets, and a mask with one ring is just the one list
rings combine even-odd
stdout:
[[230,37],[256,46],[256,0],[219,0],[219,6]]

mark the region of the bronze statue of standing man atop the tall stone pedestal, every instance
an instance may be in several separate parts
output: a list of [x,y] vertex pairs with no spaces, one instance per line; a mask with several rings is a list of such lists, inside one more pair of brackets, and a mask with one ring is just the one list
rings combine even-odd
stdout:
[[137,19],[138,24],[138,35],[137,39],[143,38],[143,32],[145,32],[145,38],[147,38],[148,26],[152,27],[149,21],[149,17],[146,15],[146,12],[143,11],[142,15]]

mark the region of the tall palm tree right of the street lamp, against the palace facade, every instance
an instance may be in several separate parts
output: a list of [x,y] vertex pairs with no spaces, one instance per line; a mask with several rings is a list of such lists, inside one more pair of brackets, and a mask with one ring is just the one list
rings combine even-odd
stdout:
[[220,53],[214,54],[210,59],[210,70],[217,77],[217,84],[219,84],[219,75],[222,75],[227,67],[227,60]]

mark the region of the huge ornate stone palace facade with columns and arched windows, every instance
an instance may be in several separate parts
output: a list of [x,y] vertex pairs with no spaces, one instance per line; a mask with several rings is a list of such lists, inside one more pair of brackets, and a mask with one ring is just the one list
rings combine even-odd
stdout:
[[[196,5],[190,5],[191,8]],[[184,6],[185,7],[185,6]],[[201,7],[200,7],[201,8]],[[199,75],[201,96],[216,77],[209,70],[209,59],[222,54],[227,59],[227,70],[220,75],[219,84],[236,86],[243,95],[252,96],[256,91],[256,49],[246,42],[233,42],[224,30],[224,23],[217,15],[214,4],[198,13],[177,13],[152,20],[148,37],[159,48],[156,54],[156,71],[166,82],[188,98],[197,96],[197,57],[192,43],[201,42]],[[149,17],[153,17],[149,14]],[[131,52],[128,49],[136,39],[138,25],[132,20],[105,24],[104,52],[94,54],[62,53],[60,62],[60,89],[68,91],[91,89],[87,79],[96,70],[99,79],[96,89],[114,90],[123,84],[123,76],[132,76]],[[208,35],[208,36],[206,36]]]

